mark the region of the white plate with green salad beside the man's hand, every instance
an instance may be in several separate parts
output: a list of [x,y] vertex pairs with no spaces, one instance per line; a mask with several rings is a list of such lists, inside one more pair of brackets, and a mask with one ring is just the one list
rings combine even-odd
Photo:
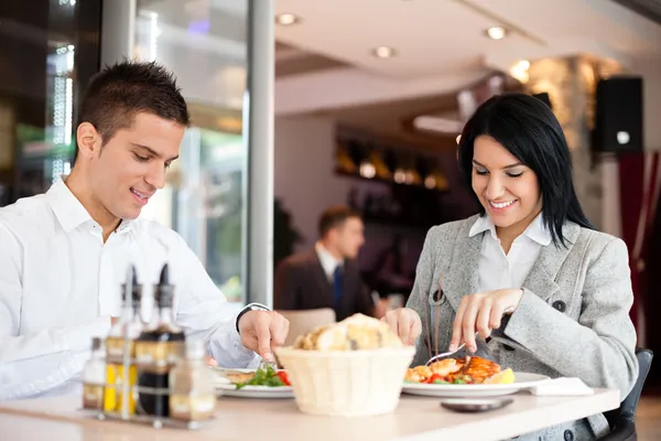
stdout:
[[225,369],[218,373],[216,390],[228,397],[241,398],[294,398],[285,370],[266,366],[258,369]]

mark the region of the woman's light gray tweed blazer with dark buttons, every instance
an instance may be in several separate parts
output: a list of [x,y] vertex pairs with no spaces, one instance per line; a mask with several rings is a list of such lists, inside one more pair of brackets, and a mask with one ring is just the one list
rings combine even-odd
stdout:
[[[446,351],[462,298],[477,290],[484,233],[468,237],[476,219],[477,215],[427,233],[407,303],[420,314],[423,327],[413,365],[424,364],[436,351],[427,342],[434,346],[437,341],[438,351]],[[542,247],[521,287],[519,306],[494,331],[488,347],[514,372],[578,377],[590,387],[619,389],[624,400],[638,376],[627,246],[573,223],[565,225],[563,235],[566,248]],[[583,440],[606,434],[609,428],[606,418],[596,415],[520,439],[565,440],[567,430]]]

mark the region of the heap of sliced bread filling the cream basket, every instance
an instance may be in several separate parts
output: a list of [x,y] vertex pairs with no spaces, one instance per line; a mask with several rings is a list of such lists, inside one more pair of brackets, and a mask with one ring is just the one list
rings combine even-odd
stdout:
[[354,314],[338,323],[316,327],[300,336],[295,349],[364,351],[400,348],[403,344],[388,323],[364,314]]

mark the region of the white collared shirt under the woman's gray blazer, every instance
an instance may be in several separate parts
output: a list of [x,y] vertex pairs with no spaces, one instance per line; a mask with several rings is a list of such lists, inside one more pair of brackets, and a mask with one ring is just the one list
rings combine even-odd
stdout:
[[484,235],[479,252],[478,292],[521,288],[542,247],[551,244],[551,233],[544,227],[541,213],[525,232],[514,239],[507,255],[500,246],[496,227],[489,216],[478,217],[468,236],[483,232],[488,233]]

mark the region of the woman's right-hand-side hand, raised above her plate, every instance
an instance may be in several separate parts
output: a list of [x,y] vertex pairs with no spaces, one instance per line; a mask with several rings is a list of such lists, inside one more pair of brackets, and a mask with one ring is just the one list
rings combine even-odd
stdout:
[[476,352],[475,333],[483,338],[491,335],[491,330],[500,327],[502,315],[517,309],[522,295],[520,288],[466,295],[455,315],[448,351],[455,351],[465,342],[466,348]]

